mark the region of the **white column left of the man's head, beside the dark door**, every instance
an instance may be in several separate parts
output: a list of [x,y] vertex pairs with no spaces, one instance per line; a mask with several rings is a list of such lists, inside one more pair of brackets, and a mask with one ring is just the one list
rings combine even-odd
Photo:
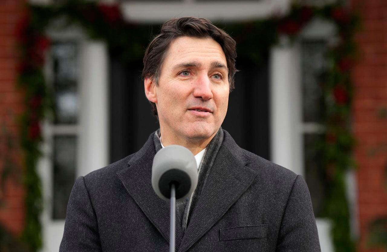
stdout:
[[108,51],[102,42],[80,46],[80,134],[77,175],[108,164]]

